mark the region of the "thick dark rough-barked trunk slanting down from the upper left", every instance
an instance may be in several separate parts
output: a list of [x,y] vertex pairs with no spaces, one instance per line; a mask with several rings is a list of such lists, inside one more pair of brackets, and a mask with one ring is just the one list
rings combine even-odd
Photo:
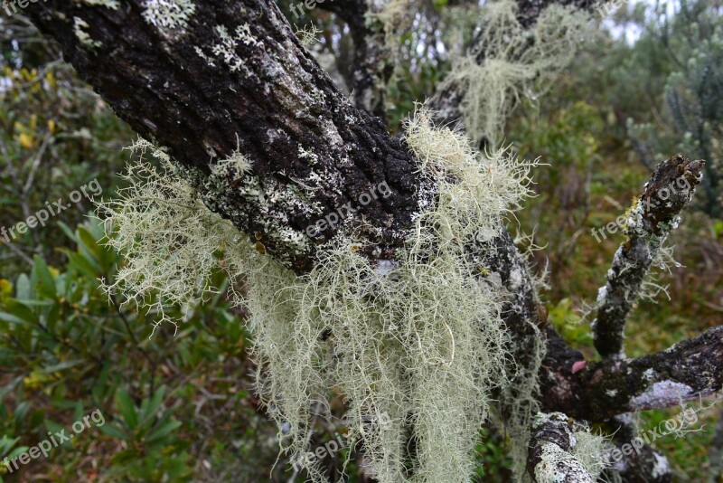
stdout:
[[[353,226],[345,229],[368,244],[370,256],[390,258],[430,186],[380,119],[346,101],[277,6],[197,2],[187,26],[159,30],[143,18],[142,3],[112,10],[49,1],[27,12],[120,118],[198,168],[199,185],[237,146],[249,157],[253,176],[242,189],[218,189],[206,202],[259,250],[297,272],[310,270],[316,247],[340,227],[308,227],[350,207],[356,211],[343,215]],[[92,45],[80,42],[75,19],[88,24],[81,30]],[[218,26],[230,36],[221,55],[212,52],[224,43]],[[377,194],[382,183],[390,196]],[[376,199],[362,204],[362,194]]]

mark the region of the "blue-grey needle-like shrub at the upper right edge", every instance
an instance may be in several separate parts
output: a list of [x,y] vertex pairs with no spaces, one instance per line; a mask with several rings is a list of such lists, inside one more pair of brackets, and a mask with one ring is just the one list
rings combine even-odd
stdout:
[[652,91],[664,107],[662,119],[631,113],[630,135],[650,167],[667,157],[663,153],[705,159],[698,205],[719,218],[723,204],[723,19],[717,8],[709,0],[683,2],[672,19],[663,24],[649,22],[645,41],[652,52],[646,53],[664,61],[631,65],[621,73],[640,72],[637,75],[664,80],[663,86],[655,85]]

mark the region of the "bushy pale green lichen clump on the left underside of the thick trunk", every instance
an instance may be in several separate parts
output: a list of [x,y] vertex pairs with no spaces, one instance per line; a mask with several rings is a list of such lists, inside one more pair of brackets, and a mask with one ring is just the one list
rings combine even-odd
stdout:
[[[195,190],[174,175],[162,150],[145,140],[133,148],[141,157],[128,166],[128,187],[118,199],[99,204],[108,220],[108,245],[127,260],[106,289],[122,289],[126,303],[156,312],[158,326],[170,321],[164,308],[192,307],[212,291],[211,272],[220,263],[214,253],[228,242],[233,226],[208,211]],[[149,148],[163,166],[143,161]]]

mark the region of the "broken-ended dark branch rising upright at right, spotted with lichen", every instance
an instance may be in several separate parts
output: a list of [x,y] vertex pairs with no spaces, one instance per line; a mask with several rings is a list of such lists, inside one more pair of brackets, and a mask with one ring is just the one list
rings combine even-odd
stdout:
[[606,286],[597,295],[597,317],[592,329],[600,355],[624,358],[625,320],[662,243],[681,222],[681,211],[700,184],[702,167],[703,161],[672,156],[656,168],[643,194],[625,213],[627,240],[615,252]]

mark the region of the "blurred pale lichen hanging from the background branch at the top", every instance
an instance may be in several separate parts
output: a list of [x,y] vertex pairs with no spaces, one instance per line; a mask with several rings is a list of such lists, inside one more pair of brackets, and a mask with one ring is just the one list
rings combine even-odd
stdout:
[[474,145],[484,141],[496,148],[521,93],[537,99],[574,59],[588,16],[552,4],[527,29],[512,0],[491,2],[482,10],[475,48],[455,60],[445,82],[465,92],[461,109]]

